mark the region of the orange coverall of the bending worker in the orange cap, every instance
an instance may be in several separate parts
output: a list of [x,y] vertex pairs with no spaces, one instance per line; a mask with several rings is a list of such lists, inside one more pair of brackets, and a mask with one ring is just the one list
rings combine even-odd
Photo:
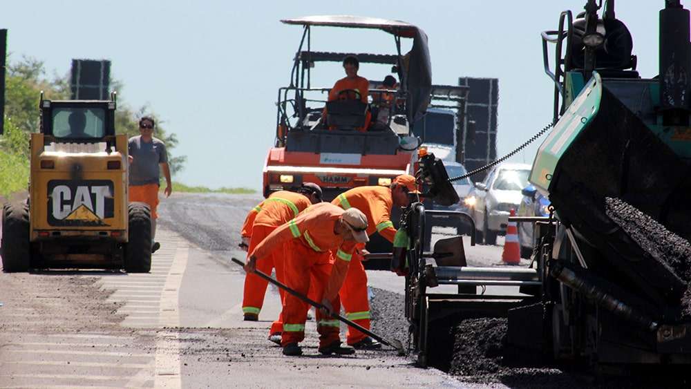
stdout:
[[[341,193],[334,198],[332,204],[343,209],[355,207],[367,216],[367,235],[379,232],[388,241],[393,242],[396,229],[391,222],[391,208],[393,198],[388,187],[357,187]],[[361,248],[361,247],[359,247]],[[341,303],[345,309],[345,317],[370,329],[370,302],[367,296],[367,273],[362,265],[362,255],[356,252],[350,261],[345,283],[341,288]],[[364,339],[367,335],[348,327],[346,339],[352,345]]]

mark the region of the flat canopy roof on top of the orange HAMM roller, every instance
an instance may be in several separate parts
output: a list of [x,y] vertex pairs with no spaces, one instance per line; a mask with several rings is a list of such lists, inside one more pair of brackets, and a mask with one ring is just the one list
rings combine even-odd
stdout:
[[317,15],[305,16],[294,19],[281,20],[286,24],[299,24],[301,26],[332,26],[345,28],[378,28],[393,35],[405,38],[415,37],[417,27],[405,21],[386,20],[376,17],[358,17],[348,15]]

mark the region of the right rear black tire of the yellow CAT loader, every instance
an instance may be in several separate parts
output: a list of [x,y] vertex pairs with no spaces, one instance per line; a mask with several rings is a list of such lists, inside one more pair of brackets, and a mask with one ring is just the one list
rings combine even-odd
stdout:
[[124,268],[128,273],[151,271],[151,209],[144,202],[131,202],[128,242],[125,246]]

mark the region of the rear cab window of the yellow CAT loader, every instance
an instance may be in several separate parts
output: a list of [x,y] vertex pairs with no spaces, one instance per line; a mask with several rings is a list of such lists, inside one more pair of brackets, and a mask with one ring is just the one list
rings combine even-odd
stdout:
[[104,108],[54,108],[53,136],[100,139],[106,135]]

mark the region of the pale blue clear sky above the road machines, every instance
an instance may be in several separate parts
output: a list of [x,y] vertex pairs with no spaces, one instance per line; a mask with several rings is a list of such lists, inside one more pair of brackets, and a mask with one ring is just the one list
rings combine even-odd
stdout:
[[[634,6],[635,3],[635,6]],[[531,8],[526,4],[530,4]],[[542,1],[8,1],[13,58],[35,57],[48,73],[68,73],[72,58],[110,59],[124,83],[120,99],[148,104],[178,135],[187,155],[176,178],[208,187],[261,187],[272,145],[276,92],[290,79],[301,28],[279,19],[359,15],[408,21],[429,38],[435,84],[460,76],[499,78],[498,151],[507,153],[551,121],[552,84],[542,71],[540,32],[585,0]],[[658,66],[658,11],[664,1],[618,1],[643,77]],[[312,31],[313,49],[395,53],[390,35],[334,28]],[[343,77],[318,65],[314,86]],[[381,79],[384,68],[362,68]],[[538,142],[539,144],[539,142]],[[513,158],[531,162],[536,146]]]

